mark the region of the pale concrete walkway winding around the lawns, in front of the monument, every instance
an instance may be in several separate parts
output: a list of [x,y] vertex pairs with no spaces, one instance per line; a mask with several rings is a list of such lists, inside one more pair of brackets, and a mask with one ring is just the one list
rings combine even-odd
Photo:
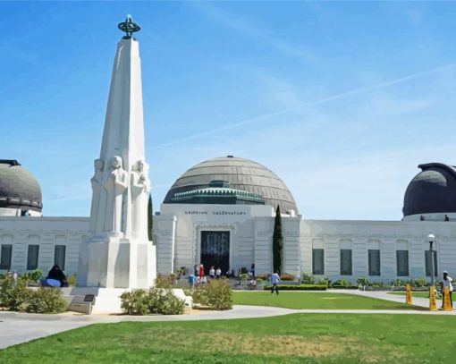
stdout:
[[[319,291],[321,292],[321,291]],[[326,291],[327,292],[327,291]],[[388,294],[388,292],[361,292],[356,290],[332,290],[330,292],[356,294],[380,300],[404,302],[405,296]],[[302,292],[296,292],[302,293]],[[324,293],[324,292],[322,292]],[[416,306],[428,307],[428,300],[413,298]],[[439,304],[439,302],[437,303]],[[313,314],[408,314],[408,315],[456,315],[456,311],[428,311],[402,309],[282,309],[262,306],[235,305],[228,311],[193,310],[188,315],[173,316],[123,316],[123,315],[81,315],[66,312],[60,315],[27,314],[17,312],[0,312],[0,349],[18,343],[57,334],[73,328],[91,324],[108,324],[122,321],[198,321],[232,318],[272,317],[291,313]]]

